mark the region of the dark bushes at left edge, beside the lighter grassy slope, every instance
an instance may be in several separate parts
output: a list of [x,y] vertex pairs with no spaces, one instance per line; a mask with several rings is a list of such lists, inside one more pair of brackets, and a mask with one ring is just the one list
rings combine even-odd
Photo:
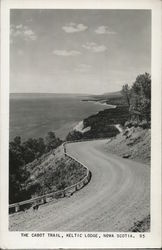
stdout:
[[28,199],[31,192],[25,189],[25,181],[30,173],[26,169],[26,164],[41,157],[61,144],[61,140],[55,136],[54,132],[49,132],[45,138],[30,138],[21,142],[21,137],[17,136],[9,144],[9,202],[14,203],[23,199]]

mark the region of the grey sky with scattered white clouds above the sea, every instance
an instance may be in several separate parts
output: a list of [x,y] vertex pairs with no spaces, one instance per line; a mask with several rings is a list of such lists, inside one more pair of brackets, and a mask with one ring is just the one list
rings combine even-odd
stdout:
[[10,92],[118,91],[151,72],[149,10],[11,10]]

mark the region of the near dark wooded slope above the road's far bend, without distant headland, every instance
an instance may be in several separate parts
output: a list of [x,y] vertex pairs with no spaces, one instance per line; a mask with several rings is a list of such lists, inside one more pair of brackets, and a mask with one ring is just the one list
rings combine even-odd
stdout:
[[83,120],[82,132],[76,127],[67,140],[111,138],[119,133],[116,124],[124,125],[129,118],[127,106],[108,108]]

